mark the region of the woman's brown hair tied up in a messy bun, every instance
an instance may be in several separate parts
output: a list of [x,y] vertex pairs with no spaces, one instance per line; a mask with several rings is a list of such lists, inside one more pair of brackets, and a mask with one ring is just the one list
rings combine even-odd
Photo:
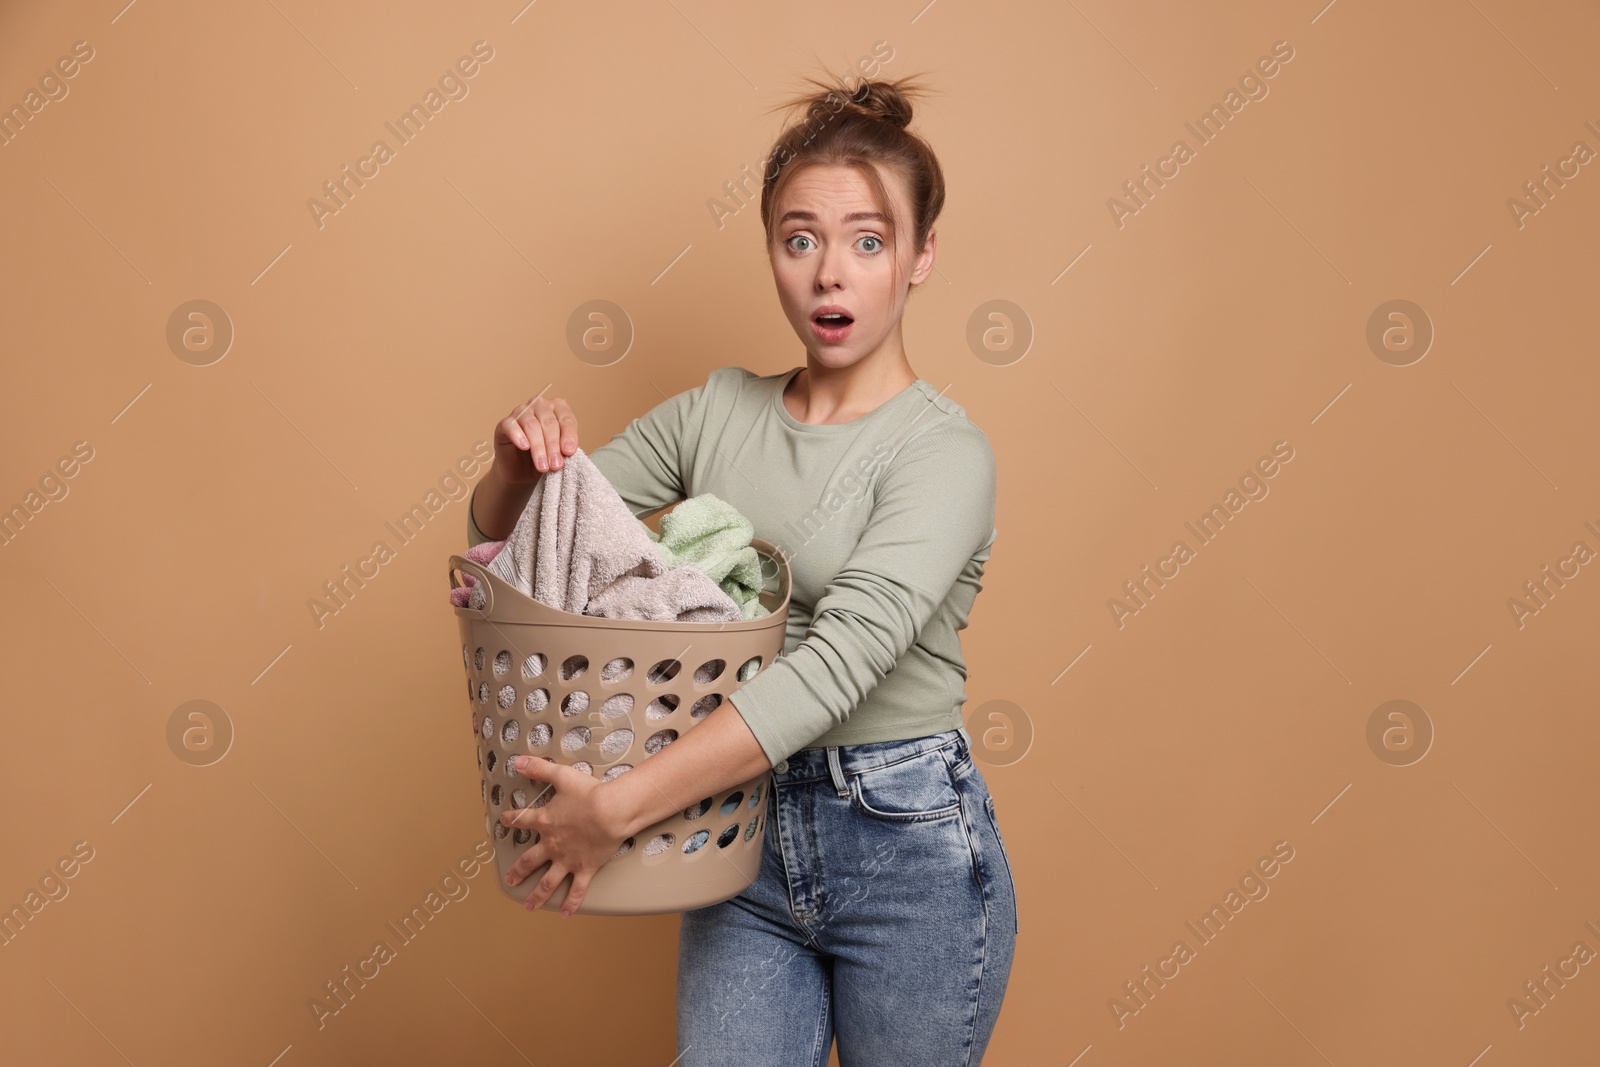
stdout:
[[[850,80],[827,82],[806,78],[814,91],[794,96],[771,110],[805,107],[803,118],[790,123],[778,136],[762,178],[762,226],[768,248],[774,237],[773,213],[778,198],[797,173],[814,165],[854,166],[877,192],[877,208],[894,218],[894,208],[878,168],[896,171],[906,182],[912,210],[912,250],[920,253],[928,243],[934,219],[944,208],[944,171],[933,149],[910,125],[910,98],[920,96],[923,85],[907,75],[893,82]],[[899,240],[891,221],[890,237]],[[899,262],[896,256],[894,262]],[[898,269],[898,266],[896,266]]]

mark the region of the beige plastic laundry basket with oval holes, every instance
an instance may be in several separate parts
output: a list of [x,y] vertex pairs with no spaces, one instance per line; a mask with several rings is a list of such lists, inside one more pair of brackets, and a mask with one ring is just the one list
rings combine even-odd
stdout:
[[[499,821],[507,808],[549,801],[541,782],[512,769],[518,755],[610,781],[693,729],[784,648],[790,574],[782,550],[754,537],[771,614],[738,622],[606,619],[550,608],[488,568],[450,557],[450,584],[483,590],[482,608],[456,608],[467,702],[482,776],[485,832],[501,889],[526,901],[547,870],[515,886],[506,872],[538,830]],[[589,883],[590,915],[683,912],[742,893],[762,865],[771,773],[718,790],[627,838]],[[550,790],[554,792],[554,790]],[[544,902],[560,909],[571,878]]]

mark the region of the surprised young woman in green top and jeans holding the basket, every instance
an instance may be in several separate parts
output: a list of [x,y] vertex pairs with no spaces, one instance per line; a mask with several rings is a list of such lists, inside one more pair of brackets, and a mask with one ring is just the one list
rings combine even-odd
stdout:
[[[539,832],[507,881],[549,864],[534,909],[571,875],[570,915],[624,838],[771,768],[757,880],[682,918],[683,1067],[813,1067],[835,1032],[846,1067],[970,1067],[1011,971],[1016,889],[962,728],[957,635],[994,544],[995,462],[906,357],[944,203],[909,82],[813,82],[771,155],[762,222],[805,366],[712,371],[589,453],[635,515],[715,493],[786,552],[784,654],[611,782],[520,758],[555,798],[502,816]],[[501,421],[472,544],[507,536],[576,448],[565,400]]]

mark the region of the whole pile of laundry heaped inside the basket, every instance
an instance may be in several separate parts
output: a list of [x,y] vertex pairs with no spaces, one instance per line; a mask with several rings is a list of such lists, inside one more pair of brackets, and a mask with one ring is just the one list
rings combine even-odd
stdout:
[[[755,528],[702,493],[661,517],[656,534],[584,450],[546,472],[506,541],[467,549],[534,600],[574,614],[670,622],[738,622],[770,614],[760,603]],[[483,606],[477,579],[450,590],[458,608]]]

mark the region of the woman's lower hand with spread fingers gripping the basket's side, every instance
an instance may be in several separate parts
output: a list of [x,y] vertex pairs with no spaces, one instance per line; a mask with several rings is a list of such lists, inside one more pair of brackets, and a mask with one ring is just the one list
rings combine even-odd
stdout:
[[[523,907],[530,912],[542,905],[566,875],[573,886],[562,902],[562,917],[570,917],[584,902],[589,883],[627,835],[613,835],[606,825],[605,811],[595,790],[603,782],[544,757],[517,757],[517,773],[523,777],[554,787],[555,795],[539,808],[512,808],[501,813],[501,822],[509,827],[538,830],[539,840],[510,865],[506,885],[517,885],[549,861],[550,869],[539,878]],[[539,790],[536,790],[538,795]]]

